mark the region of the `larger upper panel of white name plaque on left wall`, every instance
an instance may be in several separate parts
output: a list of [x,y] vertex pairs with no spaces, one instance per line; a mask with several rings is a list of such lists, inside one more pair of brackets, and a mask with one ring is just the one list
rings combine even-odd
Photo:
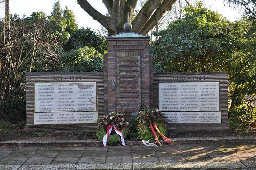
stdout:
[[35,83],[35,112],[97,111],[96,82]]

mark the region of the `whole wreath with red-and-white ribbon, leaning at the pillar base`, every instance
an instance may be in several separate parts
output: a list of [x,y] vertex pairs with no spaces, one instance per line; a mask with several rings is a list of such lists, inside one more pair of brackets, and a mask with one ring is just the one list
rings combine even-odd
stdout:
[[[97,121],[97,138],[103,142],[102,147],[109,145],[117,145],[120,142],[125,145],[124,138],[126,138],[129,122],[125,115],[119,112],[111,112],[98,118]],[[114,131],[112,131],[114,129]],[[115,132],[115,134],[113,134]]]

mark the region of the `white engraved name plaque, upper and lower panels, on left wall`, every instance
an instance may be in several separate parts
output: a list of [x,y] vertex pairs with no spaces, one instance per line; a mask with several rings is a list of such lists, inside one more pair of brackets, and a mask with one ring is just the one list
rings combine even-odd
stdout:
[[95,123],[96,82],[35,83],[34,124]]

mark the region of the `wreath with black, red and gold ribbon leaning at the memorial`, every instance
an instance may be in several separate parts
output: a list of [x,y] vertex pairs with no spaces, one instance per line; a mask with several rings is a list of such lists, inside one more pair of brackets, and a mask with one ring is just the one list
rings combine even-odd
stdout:
[[158,109],[143,109],[135,119],[138,123],[137,134],[141,140],[153,142],[155,139],[161,146],[161,136],[168,144],[172,144],[172,141],[165,137],[167,119]]

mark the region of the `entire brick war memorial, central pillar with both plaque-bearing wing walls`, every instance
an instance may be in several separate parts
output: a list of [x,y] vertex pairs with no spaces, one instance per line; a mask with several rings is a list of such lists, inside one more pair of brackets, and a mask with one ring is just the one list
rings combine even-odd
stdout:
[[227,72],[154,73],[150,37],[107,37],[103,72],[27,72],[26,132],[94,132],[99,116],[158,108],[168,131],[228,129]]

